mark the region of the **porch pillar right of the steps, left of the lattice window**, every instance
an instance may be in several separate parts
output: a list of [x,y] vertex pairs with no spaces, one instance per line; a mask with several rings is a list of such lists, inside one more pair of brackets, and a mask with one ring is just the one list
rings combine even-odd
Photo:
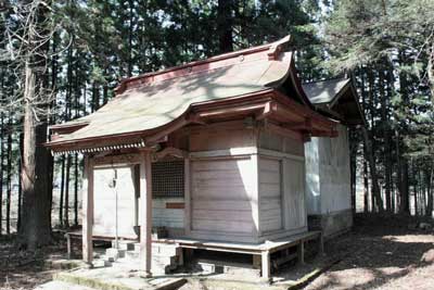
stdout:
[[143,277],[151,277],[152,266],[152,166],[151,151],[142,151],[140,159],[140,268]]

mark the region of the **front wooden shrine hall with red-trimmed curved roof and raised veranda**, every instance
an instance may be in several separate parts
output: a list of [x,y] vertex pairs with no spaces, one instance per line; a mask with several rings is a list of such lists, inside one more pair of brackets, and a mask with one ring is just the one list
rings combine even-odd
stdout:
[[85,156],[87,263],[92,239],[115,235],[137,241],[148,275],[163,243],[253,255],[266,278],[277,252],[303,260],[321,236],[307,229],[304,144],[337,130],[306,97],[289,40],[127,78],[97,112],[50,127],[53,154]]

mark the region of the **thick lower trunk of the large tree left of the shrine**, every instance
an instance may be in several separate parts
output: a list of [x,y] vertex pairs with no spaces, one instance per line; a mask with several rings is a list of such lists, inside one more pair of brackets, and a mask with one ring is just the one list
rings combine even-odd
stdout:
[[35,250],[51,242],[50,225],[50,153],[43,143],[47,140],[47,122],[38,122],[35,116],[37,93],[37,71],[29,61],[25,67],[24,91],[24,150],[23,150],[23,215],[20,229],[23,247]]

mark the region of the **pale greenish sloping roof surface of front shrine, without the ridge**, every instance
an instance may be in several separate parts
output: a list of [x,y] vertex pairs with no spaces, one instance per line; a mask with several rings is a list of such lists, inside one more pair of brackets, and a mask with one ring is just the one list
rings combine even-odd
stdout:
[[232,65],[132,87],[95,113],[75,121],[88,125],[54,142],[157,128],[182,115],[193,103],[265,90],[285,79],[290,63],[291,53],[276,61],[245,58]]

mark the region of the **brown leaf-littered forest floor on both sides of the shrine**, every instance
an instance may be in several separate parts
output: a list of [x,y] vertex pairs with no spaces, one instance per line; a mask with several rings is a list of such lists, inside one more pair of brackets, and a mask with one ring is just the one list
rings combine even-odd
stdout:
[[[305,290],[434,289],[432,229],[414,229],[414,219],[397,217],[356,217],[355,224],[352,232],[326,244],[327,256],[341,262]],[[0,290],[33,289],[51,280],[61,269],[44,262],[64,254],[64,242],[28,254],[17,251],[12,238],[0,237]]]

